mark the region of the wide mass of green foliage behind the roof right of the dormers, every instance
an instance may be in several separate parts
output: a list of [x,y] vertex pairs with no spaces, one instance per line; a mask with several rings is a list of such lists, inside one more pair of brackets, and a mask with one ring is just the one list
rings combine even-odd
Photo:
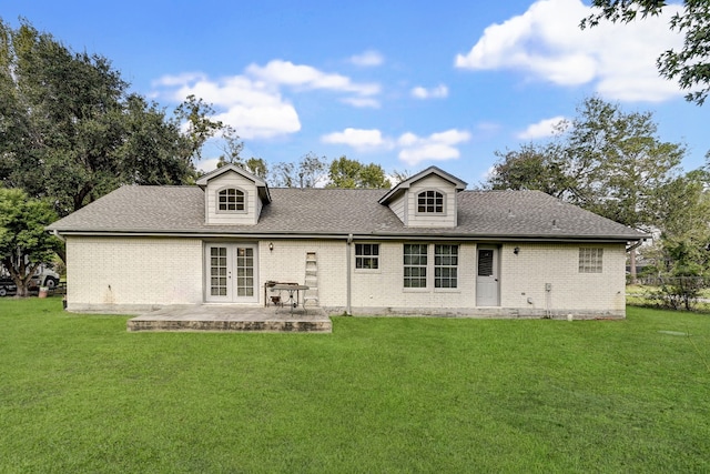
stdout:
[[660,191],[686,149],[657,137],[651,112],[588,98],[548,143],[497,153],[490,189],[535,189],[622,224],[650,230],[667,209]]

